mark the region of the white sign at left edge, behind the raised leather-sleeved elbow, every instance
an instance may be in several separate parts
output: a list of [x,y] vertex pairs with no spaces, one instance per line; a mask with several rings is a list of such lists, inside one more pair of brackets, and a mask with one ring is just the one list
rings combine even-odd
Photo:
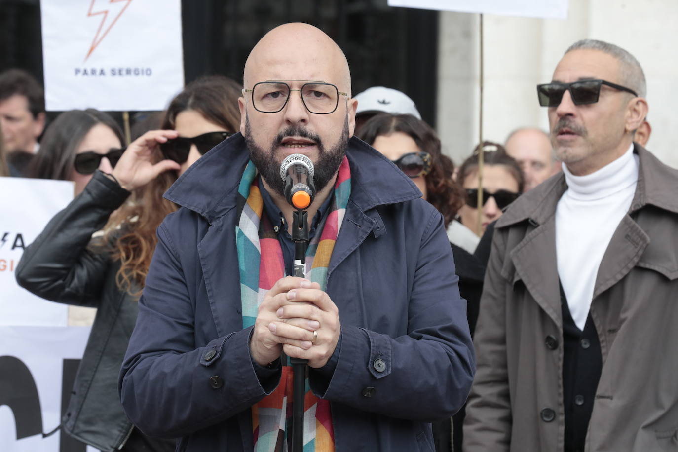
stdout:
[[24,248],[73,199],[73,182],[0,178],[0,193],[0,325],[65,327],[68,306],[22,289],[14,272]]

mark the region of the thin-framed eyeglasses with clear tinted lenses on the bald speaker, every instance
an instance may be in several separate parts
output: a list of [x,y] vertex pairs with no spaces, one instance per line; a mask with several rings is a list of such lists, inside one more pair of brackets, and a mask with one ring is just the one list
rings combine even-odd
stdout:
[[252,93],[252,106],[262,113],[277,113],[285,108],[292,91],[299,91],[306,110],[316,115],[333,113],[339,104],[339,95],[348,96],[332,83],[320,81],[304,83],[300,89],[292,89],[284,81],[260,81],[252,89],[243,91]]

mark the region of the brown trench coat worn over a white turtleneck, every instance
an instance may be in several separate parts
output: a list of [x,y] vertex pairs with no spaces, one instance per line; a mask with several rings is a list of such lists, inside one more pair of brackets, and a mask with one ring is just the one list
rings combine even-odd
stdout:
[[[678,451],[678,171],[641,146],[634,152],[635,197],[605,251],[591,304],[603,356],[586,434],[591,452]],[[563,451],[555,208],[566,188],[554,176],[496,224],[464,452]]]

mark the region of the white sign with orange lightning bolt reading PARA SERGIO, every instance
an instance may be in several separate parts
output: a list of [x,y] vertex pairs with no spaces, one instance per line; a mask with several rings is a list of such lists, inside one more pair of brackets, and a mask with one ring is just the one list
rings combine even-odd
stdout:
[[47,110],[163,110],[184,86],[180,0],[41,0]]

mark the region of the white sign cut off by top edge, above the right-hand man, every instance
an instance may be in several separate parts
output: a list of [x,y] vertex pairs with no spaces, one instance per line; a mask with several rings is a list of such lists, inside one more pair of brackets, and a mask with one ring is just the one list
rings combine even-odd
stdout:
[[567,19],[567,0],[388,0],[388,6]]

